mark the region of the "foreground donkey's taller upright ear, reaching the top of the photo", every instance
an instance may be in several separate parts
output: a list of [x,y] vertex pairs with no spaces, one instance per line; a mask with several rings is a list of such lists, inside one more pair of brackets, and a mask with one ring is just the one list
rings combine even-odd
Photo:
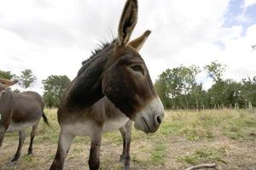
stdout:
[[125,47],[131,37],[131,33],[137,24],[137,0],[127,0],[119,21],[119,47]]

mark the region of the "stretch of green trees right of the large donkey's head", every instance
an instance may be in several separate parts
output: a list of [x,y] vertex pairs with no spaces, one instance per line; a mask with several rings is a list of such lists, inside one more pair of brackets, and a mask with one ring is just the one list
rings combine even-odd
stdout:
[[[166,109],[250,108],[256,106],[256,75],[240,82],[224,79],[227,66],[213,61],[200,69],[197,65],[163,71],[154,83]],[[196,76],[206,71],[212,87],[203,89]]]

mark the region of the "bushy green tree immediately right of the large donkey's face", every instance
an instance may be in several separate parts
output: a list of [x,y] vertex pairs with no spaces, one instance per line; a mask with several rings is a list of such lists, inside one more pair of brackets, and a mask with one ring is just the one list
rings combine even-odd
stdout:
[[[160,99],[164,101],[163,103],[167,108],[189,108],[191,103],[189,98],[191,98],[192,91],[195,91],[197,85],[195,77],[199,72],[200,69],[196,65],[189,67],[180,65],[162,72],[155,87],[160,94]],[[194,93],[194,96],[198,97],[196,93]],[[194,100],[196,101],[195,103],[198,103],[197,100]],[[171,102],[172,105],[170,104]]]

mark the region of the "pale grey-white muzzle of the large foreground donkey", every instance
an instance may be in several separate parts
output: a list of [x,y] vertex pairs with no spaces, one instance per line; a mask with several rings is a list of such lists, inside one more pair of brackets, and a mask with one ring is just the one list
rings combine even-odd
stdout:
[[155,133],[164,119],[164,107],[159,98],[153,99],[137,113],[134,127],[145,133]]

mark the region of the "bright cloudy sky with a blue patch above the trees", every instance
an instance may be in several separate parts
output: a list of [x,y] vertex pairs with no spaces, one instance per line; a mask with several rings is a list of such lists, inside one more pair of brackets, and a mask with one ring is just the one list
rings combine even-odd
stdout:
[[[141,54],[153,80],[178,65],[228,65],[224,77],[256,75],[256,0],[138,0],[132,37],[152,34]],[[117,35],[125,0],[0,0],[0,70],[76,76],[100,41]],[[211,84],[205,73],[198,82]]]

